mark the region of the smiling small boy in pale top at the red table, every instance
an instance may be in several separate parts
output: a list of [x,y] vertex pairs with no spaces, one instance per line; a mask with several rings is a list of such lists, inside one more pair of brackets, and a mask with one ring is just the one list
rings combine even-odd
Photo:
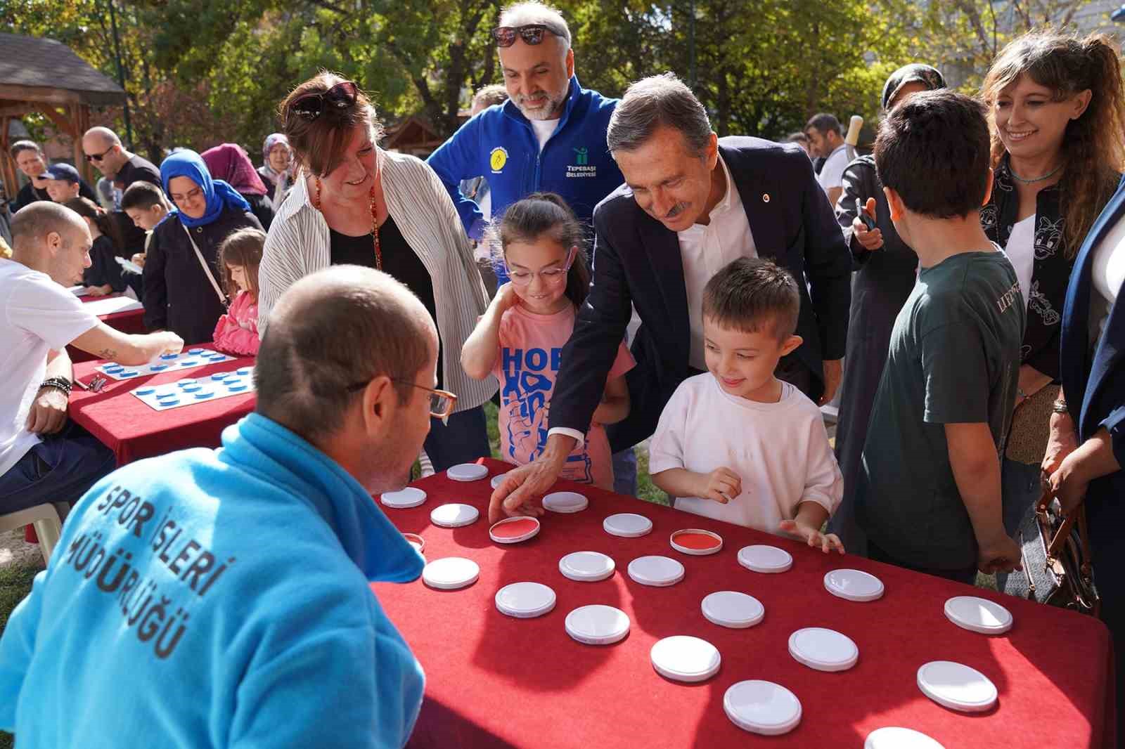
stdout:
[[684,380],[664,407],[649,472],[676,509],[844,553],[835,534],[820,532],[844,494],[820,409],[774,377],[801,345],[800,309],[793,277],[767,260],[739,258],[708,281],[708,371]]

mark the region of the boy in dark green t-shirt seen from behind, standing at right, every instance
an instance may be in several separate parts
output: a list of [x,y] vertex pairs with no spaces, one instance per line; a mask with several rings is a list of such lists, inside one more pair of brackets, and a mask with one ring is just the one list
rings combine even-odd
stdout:
[[880,125],[875,169],[919,273],[894,321],[856,494],[872,559],[970,584],[1019,562],[999,455],[1026,309],[981,229],[989,160],[981,105],[953,91],[917,93]]

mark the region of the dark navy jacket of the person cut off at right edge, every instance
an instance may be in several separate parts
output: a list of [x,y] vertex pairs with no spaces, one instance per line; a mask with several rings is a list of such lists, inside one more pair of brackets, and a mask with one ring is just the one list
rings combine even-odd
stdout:
[[[1089,333],[1094,250],[1120,220],[1125,220],[1125,180],[1074,259],[1062,315],[1060,374],[1071,417],[1078,425],[1079,443],[1106,427],[1113,439],[1114,455],[1125,466],[1125,305],[1119,304],[1119,298],[1109,310],[1105,333],[1092,353]],[[1090,481],[1086,511],[1090,539],[1096,545],[1120,538],[1120,522],[1125,520],[1123,498],[1125,470]]]

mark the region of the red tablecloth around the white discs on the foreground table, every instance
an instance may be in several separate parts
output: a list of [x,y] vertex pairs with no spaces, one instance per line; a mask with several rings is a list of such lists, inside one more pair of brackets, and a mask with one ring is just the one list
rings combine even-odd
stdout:
[[[510,468],[483,462],[490,476]],[[922,731],[947,749],[1102,747],[1113,741],[1114,715],[1107,712],[1110,640],[1096,620],[858,557],[825,556],[750,529],[565,481],[559,488],[580,490],[590,507],[573,515],[548,513],[537,538],[501,545],[488,539],[484,516],[454,530],[430,523],[430,512],[446,502],[475,505],[484,515],[487,480],[461,484],[439,475],[416,486],[428,493],[425,504],[384,508],[387,515],[400,530],[425,539],[426,559],[467,557],[480,566],[480,578],[456,592],[433,590],[421,580],[372,586],[426,673],[425,703],[411,747],[860,748],[867,733],[886,725]],[[652,532],[639,539],[606,534],[602,521],[619,512],[648,516]],[[668,536],[684,527],[716,531],[723,538],[722,551],[688,557],[673,550]],[[744,569],[736,554],[752,543],[788,549],[793,568],[781,575]],[[583,550],[612,557],[614,576],[601,583],[564,578],[559,558]],[[633,583],[626,568],[645,554],[678,559],[686,568],[684,580],[667,588]],[[876,575],[886,593],[872,603],[831,596],[824,576],[842,567]],[[520,580],[554,588],[555,610],[533,620],[496,611],[496,592]],[[765,620],[746,630],[708,622],[700,602],[723,589],[756,596],[765,605]],[[954,595],[1000,602],[1015,626],[987,637],[953,625],[943,604]],[[572,640],[564,620],[586,604],[624,611],[630,634],[614,646]],[[860,647],[858,664],[825,674],[794,661],[786,643],[804,626],[850,637]],[[673,634],[714,644],[722,655],[719,674],[696,685],[657,675],[649,649]],[[938,706],[916,685],[918,667],[930,660],[954,660],[982,671],[999,689],[999,705],[976,715]],[[768,679],[792,689],[803,707],[801,724],[772,738],[735,727],[722,710],[722,696],[742,679]]]

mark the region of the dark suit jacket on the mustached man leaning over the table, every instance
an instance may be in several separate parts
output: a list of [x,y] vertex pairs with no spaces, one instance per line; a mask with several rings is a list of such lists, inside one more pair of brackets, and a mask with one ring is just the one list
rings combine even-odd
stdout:
[[[801,290],[793,352],[822,382],[822,359],[840,359],[852,300],[852,255],[812,164],[796,145],[750,137],[719,141],[742,200],[759,258],[788,269]],[[613,450],[647,439],[676,387],[690,373],[687,292],[680,242],[646,214],[622,184],[594,209],[594,278],[562,349],[550,426],[585,432],[636,305],[637,367],[627,376],[629,417],[609,427]],[[808,281],[808,286],[801,280]],[[810,297],[811,288],[811,297]]]

